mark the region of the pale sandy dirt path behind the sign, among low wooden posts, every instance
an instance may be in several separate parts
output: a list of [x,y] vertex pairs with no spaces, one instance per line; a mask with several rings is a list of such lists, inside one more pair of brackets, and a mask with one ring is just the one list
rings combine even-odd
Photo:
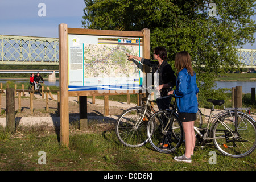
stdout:
[[[57,95],[53,95],[54,100],[51,100],[49,96],[49,112],[46,112],[46,100],[42,99],[42,96],[35,95],[33,100],[34,113],[30,114],[30,98],[28,94],[22,97],[21,106],[22,111],[15,114],[16,122],[20,124],[34,124],[46,122],[55,125],[59,122],[58,110],[57,110]],[[92,98],[87,100],[87,113],[88,120],[116,120],[119,114],[123,110],[130,107],[135,107],[136,104],[127,104],[125,102],[109,101],[109,115],[104,116],[104,100],[96,99],[95,104],[92,104]],[[0,115],[0,125],[6,125],[6,97],[2,94],[1,102],[2,113]],[[15,111],[18,111],[18,97],[15,98]],[[69,97],[69,121],[75,121],[79,119],[79,102],[77,97]]]

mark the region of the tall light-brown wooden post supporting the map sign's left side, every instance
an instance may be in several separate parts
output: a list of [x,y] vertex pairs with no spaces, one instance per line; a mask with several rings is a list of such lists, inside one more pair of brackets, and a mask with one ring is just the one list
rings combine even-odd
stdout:
[[59,24],[60,143],[69,144],[68,114],[68,25]]

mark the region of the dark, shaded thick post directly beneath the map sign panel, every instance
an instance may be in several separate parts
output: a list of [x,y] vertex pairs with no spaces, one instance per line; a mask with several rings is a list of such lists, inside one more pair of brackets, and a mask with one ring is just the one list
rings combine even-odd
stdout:
[[79,97],[79,128],[80,130],[87,129],[87,96]]

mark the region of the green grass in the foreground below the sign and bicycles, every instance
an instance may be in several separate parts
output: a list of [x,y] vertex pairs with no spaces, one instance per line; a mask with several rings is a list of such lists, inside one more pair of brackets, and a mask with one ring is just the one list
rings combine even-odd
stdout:
[[[176,153],[161,154],[150,144],[140,148],[125,147],[115,136],[114,126],[90,123],[88,131],[70,126],[69,147],[59,143],[55,127],[48,125],[19,126],[10,134],[0,126],[0,169],[15,171],[254,171],[255,151],[245,158],[221,155],[213,146],[196,146],[192,163],[176,162],[184,153],[181,145]],[[39,164],[39,151],[46,152],[46,164]],[[209,164],[209,152],[216,151],[217,164]]]

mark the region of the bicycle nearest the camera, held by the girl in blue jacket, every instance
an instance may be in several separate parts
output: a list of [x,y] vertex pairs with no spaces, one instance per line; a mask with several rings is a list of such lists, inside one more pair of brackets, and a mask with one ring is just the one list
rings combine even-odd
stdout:
[[[225,101],[212,99],[207,101],[213,104],[207,126],[194,126],[196,139],[201,144],[200,148],[203,148],[204,144],[213,142],[217,150],[226,156],[241,158],[251,154],[256,147],[255,121],[246,113],[238,111],[247,111],[249,108],[224,107],[224,113],[217,115],[213,113],[214,105],[221,106]],[[212,121],[212,115],[215,118],[214,121]],[[166,125],[163,123],[164,117],[168,119]],[[160,110],[153,114],[150,121],[148,121],[148,141],[156,151],[163,153],[173,152],[183,142],[183,127],[178,121],[178,117],[175,103],[174,109]],[[167,147],[165,150],[162,149],[164,144]]]

